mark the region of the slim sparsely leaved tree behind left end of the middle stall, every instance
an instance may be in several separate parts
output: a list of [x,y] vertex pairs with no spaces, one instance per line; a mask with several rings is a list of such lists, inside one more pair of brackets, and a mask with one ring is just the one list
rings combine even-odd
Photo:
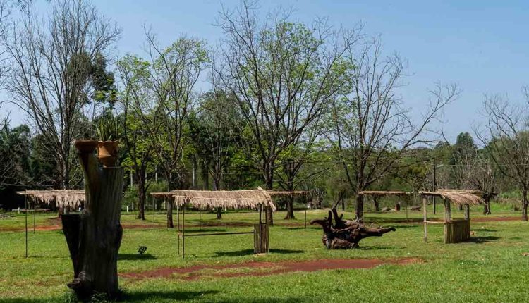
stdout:
[[[195,85],[207,67],[205,42],[181,37],[169,47],[159,47],[152,32],[145,31],[150,61],[150,82],[159,108],[161,132],[150,130],[155,139],[160,168],[168,190],[180,187],[183,130],[193,101]],[[167,227],[173,228],[173,205],[167,207]]]

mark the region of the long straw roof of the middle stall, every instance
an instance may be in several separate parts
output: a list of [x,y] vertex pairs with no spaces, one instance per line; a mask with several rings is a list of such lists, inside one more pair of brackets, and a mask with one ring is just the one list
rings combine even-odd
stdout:
[[190,204],[193,207],[228,207],[231,209],[255,209],[276,206],[270,194],[258,187],[257,190],[173,190],[172,192],[152,192],[153,197],[174,197],[177,205]]

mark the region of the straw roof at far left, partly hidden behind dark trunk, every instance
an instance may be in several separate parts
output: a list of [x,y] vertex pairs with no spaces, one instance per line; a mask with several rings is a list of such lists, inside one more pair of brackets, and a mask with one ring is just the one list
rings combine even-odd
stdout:
[[59,208],[65,206],[78,208],[85,202],[84,190],[25,190],[16,193],[26,196],[32,201]]

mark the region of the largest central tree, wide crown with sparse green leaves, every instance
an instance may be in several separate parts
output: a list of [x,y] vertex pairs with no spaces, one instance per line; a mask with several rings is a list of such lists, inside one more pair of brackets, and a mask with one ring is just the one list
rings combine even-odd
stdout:
[[[260,20],[248,1],[220,18],[225,68],[219,73],[238,98],[271,190],[281,152],[299,141],[346,83],[341,57],[358,32],[337,32],[324,20],[311,26],[291,23],[284,11]],[[273,224],[270,209],[267,221]]]

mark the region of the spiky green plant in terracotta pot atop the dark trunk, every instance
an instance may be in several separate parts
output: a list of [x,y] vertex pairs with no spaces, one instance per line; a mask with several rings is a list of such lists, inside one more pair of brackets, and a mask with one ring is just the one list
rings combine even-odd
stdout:
[[114,167],[118,161],[118,121],[114,117],[102,118],[95,125],[99,141],[97,158],[103,167]]

